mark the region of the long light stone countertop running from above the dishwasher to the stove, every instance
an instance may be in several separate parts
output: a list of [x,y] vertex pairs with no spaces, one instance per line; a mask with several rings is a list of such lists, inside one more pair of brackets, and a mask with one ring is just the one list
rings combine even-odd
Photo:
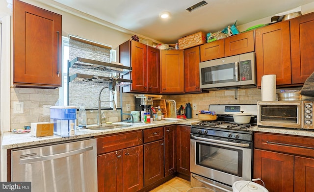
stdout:
[[[200,120],[198,119],[188,119],[188,120],[176,120],[176,121],[168,121],[168,120],[160,120],[153,121],[153,123],[141,123],[135,122],[132,126],[126,126],[123,128],[113,128],[113,129],[105,129],[105,130],[91,130],[91,129],[80,129],[77,130],[75,136],[71,137],[61,137],[58,135],[46,136],[46,137],[34,137],[30,135],[30,133],[12,133],[12,132],[4,132],[2,138],[2,149],[10,149],[10,148],[18,148],[18,147],[26,147],[37,144],[49,144],[60,141],[71,141],[79,138],[88,138],[100,135],[107,135],[113,133],[122,133],[127,131],[141,130],[159,126],[166,126],[172,124],[181,124],[181,125],[192,125]],[[130,122],[115,122],[114,124],[127,124],[131,125]]]

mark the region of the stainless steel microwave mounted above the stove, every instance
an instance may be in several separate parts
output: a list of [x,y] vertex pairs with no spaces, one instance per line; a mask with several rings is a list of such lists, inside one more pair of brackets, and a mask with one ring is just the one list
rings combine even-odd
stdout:
[[256,85],[255,69],[254,52],[201,62],[201,89]]

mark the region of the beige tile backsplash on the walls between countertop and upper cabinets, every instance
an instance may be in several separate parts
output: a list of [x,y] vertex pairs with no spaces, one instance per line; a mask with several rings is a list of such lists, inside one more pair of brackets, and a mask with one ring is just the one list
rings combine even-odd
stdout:
[[[120,96],[117,96],[120,97]],[[30,125],[31,122],[50,122],[50,116],[44,116],[43,105],[55,105],[55,102],[59,98],[59,89],[31,89],[31,88],[11,88],[10,99],[10,114],[11,114],[11,130],[21,129],[24,125]],[[258,100],[261,100],[261,90],[257,88],[251,89],[238,89],[237,99],[235,99],[235,90],[220,90],[210,91],[209,93],[202,94],[183,94],[183,95],[164,95],[162,98],[174,99],[177,104],[177,108],[180,105],[185,106],[185,103],[195,103],[196,110],[192,110],[192,118],[197,118],[199,110],[207,110],[209,104],[256,104]],[[14,101],[24,102],[24,113],[13,114]],[[118,99],[120,103],[120,99]],[[134,94],[123,94],[123,111],[126,111],[126,104],[131,105],[131,111],[135,110],[135,96]],[[102,110],[107,121],[120,121],[120,110]],[[97,123],[97,110],[86,111],[87,124]],[[129,116],[123,116],[123,119]]]

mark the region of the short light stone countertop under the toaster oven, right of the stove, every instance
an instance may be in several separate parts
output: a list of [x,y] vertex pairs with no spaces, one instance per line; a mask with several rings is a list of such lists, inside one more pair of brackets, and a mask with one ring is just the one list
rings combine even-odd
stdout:
[[292,128],[280,128],[280,127],[253,127],[253,131],[267,132],[267,133],[279,133],[286,135],[306,136],[314,137],[314,131]]

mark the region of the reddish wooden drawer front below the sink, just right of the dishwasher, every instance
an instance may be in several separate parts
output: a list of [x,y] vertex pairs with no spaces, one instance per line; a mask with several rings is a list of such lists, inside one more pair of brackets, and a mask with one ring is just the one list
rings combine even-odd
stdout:
[[97,138],[97,154],[143,144],[142,130]]

